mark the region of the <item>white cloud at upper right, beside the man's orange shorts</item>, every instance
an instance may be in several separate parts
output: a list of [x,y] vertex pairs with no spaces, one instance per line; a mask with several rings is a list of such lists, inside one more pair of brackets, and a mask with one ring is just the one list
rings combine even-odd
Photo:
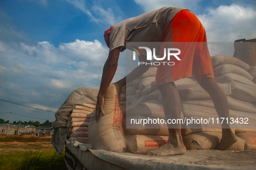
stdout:
[[208,42],[234,42],[237,39],[256,38],[256,10],[238,5],[219,6],[198,15]]

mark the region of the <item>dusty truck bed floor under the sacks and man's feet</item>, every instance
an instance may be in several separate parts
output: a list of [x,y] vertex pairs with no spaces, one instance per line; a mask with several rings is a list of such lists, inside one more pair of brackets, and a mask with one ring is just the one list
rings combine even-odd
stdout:
[[68,140],[66,150],[76,157],[84,170],[256,169],[256,151],[187,150],[183,155],[163,157],[93,150],[90,144]]

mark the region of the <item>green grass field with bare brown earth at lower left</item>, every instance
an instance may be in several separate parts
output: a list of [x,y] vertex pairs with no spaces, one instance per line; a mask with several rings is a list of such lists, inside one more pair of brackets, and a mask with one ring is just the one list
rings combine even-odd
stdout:
[[0,170],[65,170],[65,153],[56,153],[50,138],[0,138]]

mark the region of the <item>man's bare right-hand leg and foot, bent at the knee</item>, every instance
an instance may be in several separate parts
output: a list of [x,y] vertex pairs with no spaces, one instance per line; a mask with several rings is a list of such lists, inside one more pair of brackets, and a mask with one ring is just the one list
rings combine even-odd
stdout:
[[[219,118],[229,118],[229,106],[227,97],[224,91],[220,88],[217,82],[206,75],[201,77],[201,87],[206,90],[214,103],[215,109]],[[231,131],[230,123],[223,123],[222,125],[222,138],[217,145],[218,150],[226,150],[237,141],[237,136]]]

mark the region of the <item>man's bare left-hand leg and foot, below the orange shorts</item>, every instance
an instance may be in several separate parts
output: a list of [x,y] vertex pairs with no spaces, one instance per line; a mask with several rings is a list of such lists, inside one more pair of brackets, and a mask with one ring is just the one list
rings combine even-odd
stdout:
[[[165,119],[181,119],[181,99],[178,90],[173,82],[159,86],[162,94],[162,104],[165,112]],[[168,156],[179,155],[186,152],[185,145],[181,138],[181,128],[178,124],[168,124],[169,139],[166,144],[150,151],[148,155]]]

